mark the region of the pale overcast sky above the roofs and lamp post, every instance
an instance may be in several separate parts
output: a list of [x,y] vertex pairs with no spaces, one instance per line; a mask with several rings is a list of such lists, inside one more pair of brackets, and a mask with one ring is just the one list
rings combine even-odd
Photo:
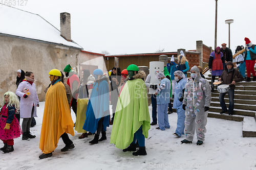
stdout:
[[[125,54],[196,50],[197,40],[214,48],[215,4],[215,0],[28,0],[26,6],[13,7],[38,14],[59,30],[59,15],[68,12],[71,38],[85,51]],[[234,20],[232,51],[244,45],[244,37],[256,44],[255,9],[255,0],[219,0],[217,46],[223,42],[228,46],[227,19]]]

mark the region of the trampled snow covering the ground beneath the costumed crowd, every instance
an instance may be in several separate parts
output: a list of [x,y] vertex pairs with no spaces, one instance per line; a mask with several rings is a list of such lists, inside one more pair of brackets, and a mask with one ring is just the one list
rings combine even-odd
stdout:
[[[133,156],[110,144],[112,126],[107,129],[107,140],[90,145],[88,138],[78,139],[80,133],[70,136],[73,150],[60,152],[65,146],[60,139],[53,156],[39,159],[40,129],[44,102],[37,110],[37,125],[31,128],[36,138],[28,141],[14,139],[14,151],[2,154],[0,169],[256,169],[256,138],[242,137],[242,122],[208,118],[207,133],[203,145],[181,144],[185,138],[172,135],[176,129],[177,114],[169,114],[170,129],[157,130],[152,126],[145,140],[146,156]],[[152,111],[151,106],[149,107]],[[75,121],[75,114],[72,111]],[[21,119],[22,122],[22,119]],[[2,147],[2,145],[1,145]]]

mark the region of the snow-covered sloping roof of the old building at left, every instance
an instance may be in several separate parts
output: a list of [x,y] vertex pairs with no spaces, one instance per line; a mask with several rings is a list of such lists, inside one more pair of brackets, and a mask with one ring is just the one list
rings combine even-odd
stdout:
[[60,31],[38,14],[0,4],[0,35],[11,35],[82,49],[74,41],[60,36]]

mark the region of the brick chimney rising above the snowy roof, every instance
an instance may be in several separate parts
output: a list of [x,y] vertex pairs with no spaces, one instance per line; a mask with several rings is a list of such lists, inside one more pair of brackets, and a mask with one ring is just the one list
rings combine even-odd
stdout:
[[65,38],[67,41],[71,40],[71,17],[70,13],[60,13],[60,36]]

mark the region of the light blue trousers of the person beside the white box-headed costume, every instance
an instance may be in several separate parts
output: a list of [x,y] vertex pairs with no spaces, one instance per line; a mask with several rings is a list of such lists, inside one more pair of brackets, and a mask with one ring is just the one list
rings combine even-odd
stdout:
[[165,128],[170,128],[167,111],[168,103],[157,105],[158,126],[161,130],[165,130]]

